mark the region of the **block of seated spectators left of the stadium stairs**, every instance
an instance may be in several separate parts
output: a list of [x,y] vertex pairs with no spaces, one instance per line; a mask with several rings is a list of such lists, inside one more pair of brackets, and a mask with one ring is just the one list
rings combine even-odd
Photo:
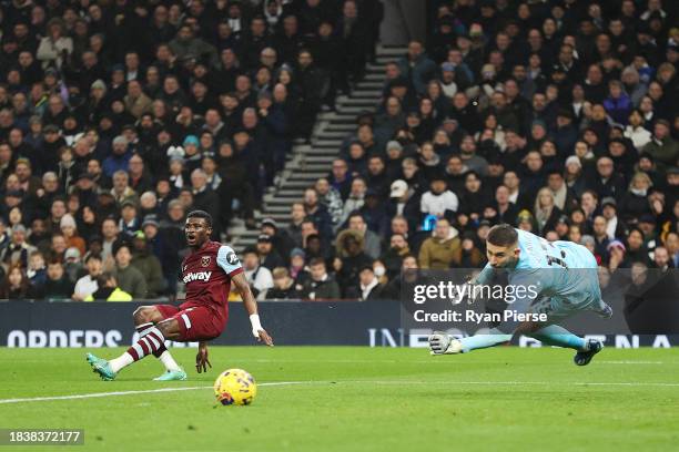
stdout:
[[374,58],[377,0],[0,2],[0,298],[173,296]]

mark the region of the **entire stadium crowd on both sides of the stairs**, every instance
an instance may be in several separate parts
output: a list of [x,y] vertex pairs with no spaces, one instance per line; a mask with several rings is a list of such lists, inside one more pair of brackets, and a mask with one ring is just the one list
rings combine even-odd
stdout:
[[[381,17],[376,0],[100,3],[3,9],[0,297],[173,294],[186,210],[255,226]],[[242,250],[257,297],[397,299],[402,269],[483,266],[497,223],[581,243],[602,274],[677,267],[672,2],[429,3],[328,175]]]

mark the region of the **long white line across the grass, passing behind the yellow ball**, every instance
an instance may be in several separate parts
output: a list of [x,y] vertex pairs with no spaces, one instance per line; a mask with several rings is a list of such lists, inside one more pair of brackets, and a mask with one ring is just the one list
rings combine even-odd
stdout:
[[[407,381],[407,380],[347,380],[347,381],[272,381],[259,383],[260,387],[284,387],[294,384],[460,384],[460,386],[610,386],[610,387],[651,387],[651,388],[679,388],[679,382],[648,382],[648,381]],[[138,391],[113,391],[113,392],[93,392],[89,394],[71,394],[71,396],[54,396],[54,397],[34,397],[26,399],[0,399],[0,404],[21,403],[21,402],[45,402],[54,400],[77,400],[77,399],[94,399],[101,397],[116,396],[134,396],[150,394],[158,392],[174,392],[174,391],[195,391],[199,389],[212,389],[212,386],[204,387],[183,387],[183,388],[159,388]]]

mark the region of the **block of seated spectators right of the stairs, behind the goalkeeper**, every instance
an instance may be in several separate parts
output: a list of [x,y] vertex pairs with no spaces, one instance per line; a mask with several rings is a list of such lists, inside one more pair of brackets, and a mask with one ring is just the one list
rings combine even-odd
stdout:
[[399,299],[402,269],[483,266],[489,227],[509,223],[588,247],[604,288],[657,268],[632,282],[676,297],[675,2],[432,4],[426,43],[387,64],[382,104],[291,225],[264,222],[245,256],[255,288]]

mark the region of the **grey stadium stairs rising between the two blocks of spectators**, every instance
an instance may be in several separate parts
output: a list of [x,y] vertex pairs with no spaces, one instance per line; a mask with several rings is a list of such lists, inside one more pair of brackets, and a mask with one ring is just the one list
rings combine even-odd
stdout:
[[[257,224],[271,217],[278,227],[287,227],[292,204],[302,201],[304,189],[330,173],[342,142],[355,133],[356,116],[375,111],[382,96],[386,63],[398,60],[405,52],[403,47],[378,45],[375,62],[367,64],[365,75],[351,94],[337,97],[334,112],[318,114],[311,144],[302,140],[293,143],[284,170],[264,195],[262,210],[255,210]],[[240,219],[234,219],[229,227],[229,239],[237,251],[255,245],[259,234],[259,229],[245,228]]]

